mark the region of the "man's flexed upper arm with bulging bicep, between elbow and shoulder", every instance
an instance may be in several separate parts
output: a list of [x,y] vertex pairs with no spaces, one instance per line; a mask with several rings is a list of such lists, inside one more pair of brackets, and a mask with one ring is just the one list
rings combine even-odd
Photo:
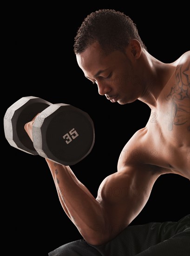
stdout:
[[[144,208],[158,175],[151,165],[125,166],[100,184],[98,200],[110,229],[121,232]],[[106,229],[106,227],[105,227]]]

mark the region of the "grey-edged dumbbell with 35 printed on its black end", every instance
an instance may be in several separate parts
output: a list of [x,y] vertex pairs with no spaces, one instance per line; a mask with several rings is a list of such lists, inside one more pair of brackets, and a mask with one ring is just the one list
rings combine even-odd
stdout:
[[[24,126],[36,115],[31,141]],[[7,109],[4,132],[14,148],[63,165],[74,165],[84,159],[95,141],[94,124],[86,112],[33,96],[22,97]]]

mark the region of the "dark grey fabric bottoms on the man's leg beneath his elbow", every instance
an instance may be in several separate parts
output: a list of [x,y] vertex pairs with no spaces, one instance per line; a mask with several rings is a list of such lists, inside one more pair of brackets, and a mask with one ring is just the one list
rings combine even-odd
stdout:
[[190,256],[190,215],[178,222],[150,222],[126,227],[114,239],[93,246],[80,239],[49,256]]

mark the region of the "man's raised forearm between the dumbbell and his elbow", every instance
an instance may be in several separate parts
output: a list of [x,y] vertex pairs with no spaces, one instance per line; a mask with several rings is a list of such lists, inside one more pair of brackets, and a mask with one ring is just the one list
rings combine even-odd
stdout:
[[104,225],[104,214],[94,196],[76,178],[69,166],[47,160],[67,216],[89,243],[93,243],[94,225]]

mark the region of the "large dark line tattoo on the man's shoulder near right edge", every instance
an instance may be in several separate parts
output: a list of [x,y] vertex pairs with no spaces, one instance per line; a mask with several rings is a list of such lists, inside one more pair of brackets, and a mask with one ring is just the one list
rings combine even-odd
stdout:
[[[190,63],[179,65],[176,69],[176,84],[171,88],[167,100],[171,101],[171,119],[168,125],[170,131],[174,125],[183,125],[190,121]],[[188,126],[190,129],[190,126]]]

